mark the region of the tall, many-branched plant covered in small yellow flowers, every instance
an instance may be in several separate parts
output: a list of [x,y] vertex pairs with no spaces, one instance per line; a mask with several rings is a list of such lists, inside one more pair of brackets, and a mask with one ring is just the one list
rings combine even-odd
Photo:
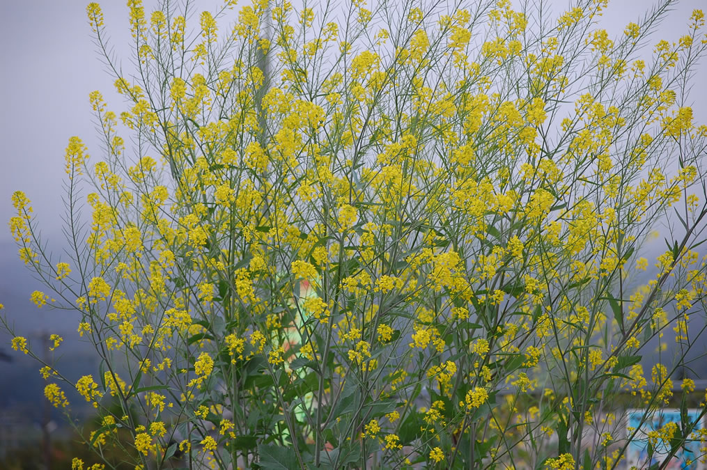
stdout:
[[615,37],[606,3],[130,0],[124,110],[90,93],[102,156],[66,148],[66,257],[23,192],[10,222],[100,358],[68,377],[3,320],[54,406],[99,413],[90,468],[621,464],[617,396],[649,421],[703,341],[707,36],[694,11],[645,52],[674,1]]

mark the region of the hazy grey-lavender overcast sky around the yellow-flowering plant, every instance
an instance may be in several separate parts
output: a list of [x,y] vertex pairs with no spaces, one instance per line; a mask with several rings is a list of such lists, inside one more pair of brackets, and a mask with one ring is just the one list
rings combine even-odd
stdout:
[[[86,20],[86,0],[0,0],[0,302],[18,326],[59,327],[73,331],[75,322],[66,322],[66,312],[37,311],[29,295],[42,286],[33,281],[17,258],[17,249],[6,221],[13,215],[11,194],[25,191],[33,201],[38,226],[54,249],[63,246],[61,233],[64,148],[70,136],[78,135],[88,145],[92,160],[100,160],[98,140],[93,129],[88,93],[100,90],[110,109],[122,110],[110,76],[95,53]],[[100,2],[112,45],[129,69],[131,38],[127,28],[124,0]],[[156,1],[146,0],[150,12]],[[197,8],[217,4],[197,1]],[[297,2],[293,2],[297,3]],[[368,1],[373,3],[372,0]],[[517,2],[516,2],[517,3]],[[555,13],[563,11],[567,0],[548,2]],[[602,23],[611,33],[620,33],[626,23],[637,20],[653,2],[614,0]],[[707,7],[705,0],[683,0],[662,23],[651,44],[660,38],[677,40],[685,30],[694,8]],[[237,7],[235,11],[238,11]],[[235,12],[233,13],[235,15]],[[650,51],[650,47],[646,49]],[[707,122],[707,64],[696,72],[695,117]],[[33,325],[33,326],[30,326]],[[53,331],[52,331],[53,332]],[[4,336],[0,334],[0,342]],[[68,341],[67,341],[68,342]],[[7,344],[0,348],[8,351]],[[0,402],[2,398],[0,387]],[[1,403],[0,403],[1,406]]]

